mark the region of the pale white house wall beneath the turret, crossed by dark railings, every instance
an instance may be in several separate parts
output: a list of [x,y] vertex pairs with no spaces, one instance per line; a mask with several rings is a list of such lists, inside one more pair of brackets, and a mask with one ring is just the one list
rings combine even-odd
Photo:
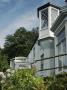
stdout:
[[[39,71],[39,70],[41,70],[41,55],[44,54],[44,58],[49,58],[51,56],[54,56],[54,47],[52,46],[52,44],[54,44],[53,40],[50,40],[50,39],[48,39],[48,40],[44,39],[44,40],[39,41],[39,45],[38,45],[38,41],[36,41],[35,45],[33,46],[32,50],[30,51],[30,53],[27,57],[29,62],[35,62],[34,65],[37,69],[37,74],[39,74],[39,75],[43,74],[44,76],[45,75],[48,76],[54,72],[52,70]],[[35,47],[35,58],[33,57],[34,47]],[[54,59],[53,60],[52,59],[44,60],[44,68],[43,69],[50,69],[50,68],[54,68]]]

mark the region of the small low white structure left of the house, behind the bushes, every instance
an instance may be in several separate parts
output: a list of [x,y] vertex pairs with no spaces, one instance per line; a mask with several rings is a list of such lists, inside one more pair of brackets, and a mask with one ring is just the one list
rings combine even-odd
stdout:
[[26,61],[26,57],[15,57],[11,59],[10,67],[12,69],[31,68],[30,63]]

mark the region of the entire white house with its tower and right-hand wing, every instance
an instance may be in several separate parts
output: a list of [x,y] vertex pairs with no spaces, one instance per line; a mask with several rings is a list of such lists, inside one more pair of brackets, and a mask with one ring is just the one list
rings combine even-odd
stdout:
[[67,6],[47,3],[37,9],[39,37],[27,56],[40,76],[67,70]]

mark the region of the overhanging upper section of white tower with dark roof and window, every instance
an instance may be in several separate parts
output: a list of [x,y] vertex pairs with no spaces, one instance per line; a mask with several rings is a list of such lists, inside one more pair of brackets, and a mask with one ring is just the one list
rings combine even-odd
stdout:
[[53,32],[50,30],[59,15],[59,7],[52,5],[50,2],[39,7],[39,39],[54,37]]

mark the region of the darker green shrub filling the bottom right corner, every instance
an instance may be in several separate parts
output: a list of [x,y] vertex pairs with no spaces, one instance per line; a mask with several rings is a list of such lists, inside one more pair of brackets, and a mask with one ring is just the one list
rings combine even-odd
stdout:
[[67,73],[45,78],[47,90],[67,90]]

